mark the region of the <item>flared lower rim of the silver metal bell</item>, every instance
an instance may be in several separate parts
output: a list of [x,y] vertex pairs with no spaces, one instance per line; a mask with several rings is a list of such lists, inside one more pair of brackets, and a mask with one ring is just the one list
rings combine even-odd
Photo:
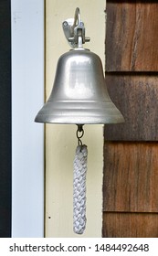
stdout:
[[111,101],[47,101],[37,113],[37,123],[124,123]]

